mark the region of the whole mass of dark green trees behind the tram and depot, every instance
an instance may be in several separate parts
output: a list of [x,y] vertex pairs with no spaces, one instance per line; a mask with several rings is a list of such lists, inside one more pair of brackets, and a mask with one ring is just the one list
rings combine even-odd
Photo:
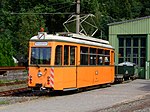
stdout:
[[[1,0],[0,66],[14,66],[12,56],[24,62],[28,56],[28,40],[37,35],[40,27],[48,33],[65,31],[63,23],[70,15],[44,13],[76,12],[74,1]],[[99,28],[96,37],[108,39],[108,23],[149,16],[149,6],[149,0],[81,0],[81,14],[94,14]],[[73,25],[71,29],[75,29]],[[88,28],[86,24],[84,27]]]

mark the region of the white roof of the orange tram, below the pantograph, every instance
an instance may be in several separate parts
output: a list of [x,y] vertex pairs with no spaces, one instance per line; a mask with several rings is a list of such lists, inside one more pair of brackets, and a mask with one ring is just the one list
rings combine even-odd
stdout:
[[74,34],[74,33],[58,33],[56,35],[47,34],[46,32],[39,32],[37,36],[33,36],[31,41],[65,41],[79,44],[87,44],[93,46],[101,46],[106,48],[113,48],[108,41],[97,39],[85,35]]

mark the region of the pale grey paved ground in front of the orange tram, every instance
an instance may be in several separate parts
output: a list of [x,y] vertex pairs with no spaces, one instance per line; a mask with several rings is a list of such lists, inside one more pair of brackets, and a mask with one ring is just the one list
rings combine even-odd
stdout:
[[[111,87],[77,94],[44,97],[28,102],[1,106],[0,112],[101,112],[102,110],[107,112],[111,109],[109,107],[120,106],[120,103],[124,102],[126,104],[136,102],[149,94],[150,81],[137,79],[130,83],[112,85]],[[116,111],[114,110],[114,112]]]

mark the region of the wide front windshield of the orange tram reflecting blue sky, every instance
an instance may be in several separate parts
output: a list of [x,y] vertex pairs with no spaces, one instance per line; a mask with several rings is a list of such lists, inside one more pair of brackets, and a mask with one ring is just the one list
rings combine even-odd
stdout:
[[50,65],[51,48],[32,47],[31,48],[31,64],[47,64]]

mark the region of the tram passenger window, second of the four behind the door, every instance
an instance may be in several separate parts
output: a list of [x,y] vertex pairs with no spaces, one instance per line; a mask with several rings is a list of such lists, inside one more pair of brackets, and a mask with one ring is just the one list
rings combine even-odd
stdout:
[[90,48],[90,65],[96,65],[96,49]]

